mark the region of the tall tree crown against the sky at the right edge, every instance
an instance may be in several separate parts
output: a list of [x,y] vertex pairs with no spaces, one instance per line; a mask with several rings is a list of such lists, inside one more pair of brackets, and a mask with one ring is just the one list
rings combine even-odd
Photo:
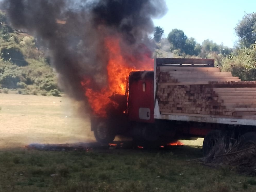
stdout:
[[250,47],[256,41],[256,13],[244,14],[237,24],[236,35],[240,38],[240,45]]

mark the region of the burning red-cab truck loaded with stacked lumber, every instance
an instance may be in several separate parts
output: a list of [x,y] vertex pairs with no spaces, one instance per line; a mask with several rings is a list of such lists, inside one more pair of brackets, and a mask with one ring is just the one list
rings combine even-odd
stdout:
[[223,138],[256,141],[255,82],[220,72],[214,60],[155,58],[154,70],[131,71],[122,87],[91,119],[100,143],[116,135],[157,144],[204,137],[207,155]]

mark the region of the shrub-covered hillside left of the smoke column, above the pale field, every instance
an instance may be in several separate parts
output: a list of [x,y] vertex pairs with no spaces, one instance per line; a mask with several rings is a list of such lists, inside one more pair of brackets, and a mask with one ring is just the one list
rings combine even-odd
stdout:
[[60,96],[47,50],[26,33],[11,28],[0,12],[0,89],[7,93]]

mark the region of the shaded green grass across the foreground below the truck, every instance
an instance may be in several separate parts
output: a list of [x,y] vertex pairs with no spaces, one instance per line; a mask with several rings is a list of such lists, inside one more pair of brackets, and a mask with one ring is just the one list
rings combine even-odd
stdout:
[[201,148],[0,151],[0,191],[255,191],[256,178],[196,161]]

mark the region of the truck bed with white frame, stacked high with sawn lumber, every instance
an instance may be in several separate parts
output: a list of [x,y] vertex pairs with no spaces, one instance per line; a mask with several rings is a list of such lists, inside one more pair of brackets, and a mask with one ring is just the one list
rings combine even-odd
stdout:
[[256,124],[256,83],[221,72],[214,60],[156,58],[154,73],[154,118]]

